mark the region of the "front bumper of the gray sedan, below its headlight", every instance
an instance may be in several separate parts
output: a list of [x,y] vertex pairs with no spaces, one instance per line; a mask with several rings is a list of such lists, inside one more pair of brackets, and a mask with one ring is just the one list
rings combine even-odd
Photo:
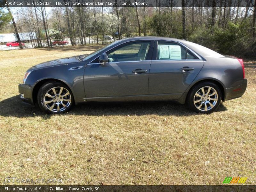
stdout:
[[33,102],[33,85],[30,84],[19,84],[19,93],[21,94],[20,99],[30,105],[34,105]]

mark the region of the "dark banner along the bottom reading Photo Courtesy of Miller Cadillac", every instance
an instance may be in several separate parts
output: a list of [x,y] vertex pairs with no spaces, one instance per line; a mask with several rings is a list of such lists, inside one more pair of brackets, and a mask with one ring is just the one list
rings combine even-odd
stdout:
[[0,186],[0,192],[236,192],[256,191],[255,185],[6,185]]

